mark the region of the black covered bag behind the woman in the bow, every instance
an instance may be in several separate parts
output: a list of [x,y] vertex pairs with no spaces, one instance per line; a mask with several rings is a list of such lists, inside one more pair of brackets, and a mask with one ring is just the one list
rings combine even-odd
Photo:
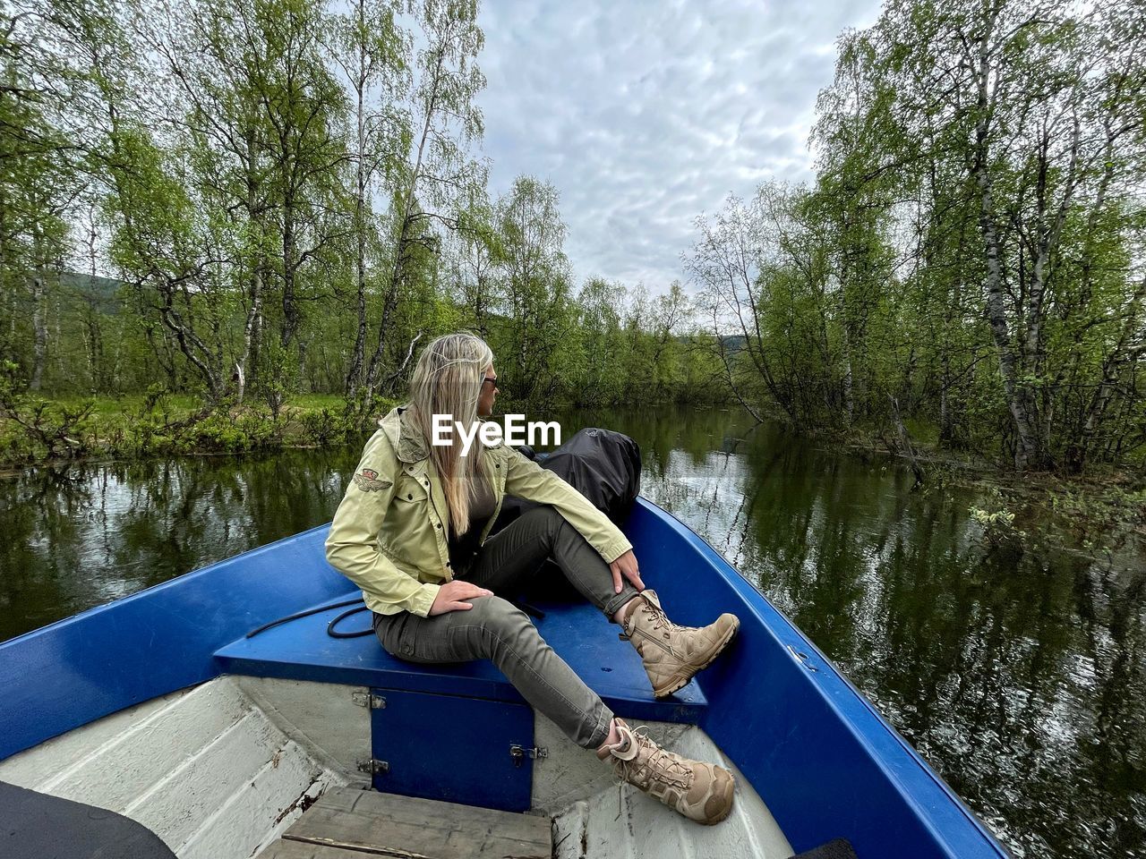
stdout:
[[[641,494],[641,448],[629,436],[612,430],[587,427],[543,457],[537,457],[527,447],[518,450],[560,476],[617,525],[623,525]],[[496,534],[536,506],[540,505],[535,502],[507,497],[489,533]],[[527,589],[531,598],[578,597],[557,565],[547,561],[542,566],[534,584]]]

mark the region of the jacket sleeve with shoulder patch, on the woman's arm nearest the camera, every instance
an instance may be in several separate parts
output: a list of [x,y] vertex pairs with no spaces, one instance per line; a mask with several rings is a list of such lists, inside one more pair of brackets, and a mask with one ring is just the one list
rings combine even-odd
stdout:
[[378,531],[394,498],[398,478],[398,460],[387,449],[388,443],[380,432],[367,442],[362,462],[330,523],[327,560],[367,596],[426,617],[439,585],[423,584],[403,573],[378,545]]

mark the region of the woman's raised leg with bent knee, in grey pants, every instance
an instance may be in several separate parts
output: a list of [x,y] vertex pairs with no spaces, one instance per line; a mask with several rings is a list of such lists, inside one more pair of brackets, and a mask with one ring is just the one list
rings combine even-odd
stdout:
[[526,511],[504,530],[486,541],[465,581],[495,593],[523,586],[541,565],[552,558],[574,588],[612,621],[621,606],[637,596],[629,582],[613,590],[609,565],[554,507]]

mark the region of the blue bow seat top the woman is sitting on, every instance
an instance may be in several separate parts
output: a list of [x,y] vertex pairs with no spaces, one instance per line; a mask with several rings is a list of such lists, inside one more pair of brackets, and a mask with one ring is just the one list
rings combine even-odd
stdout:
[[[323,600],[329,605],[358,596]],[[699,723],[707,701],[697,684],[657,700],[641,657],[619,628],[583,601],[533,601],[544,613],[534,618],[545,641],[576,671],[618,716],[628,719]],[[386,653],[374,636],[332,638],[327,624],[345,608],[331,608],[240,638],[214,654],[222,670],[233,675],[314,680],[388,689],[407,689],[521,702],[524,699],[489,660],[425,665]],[[342,632],[367,629],[369,613],[343,621]]]

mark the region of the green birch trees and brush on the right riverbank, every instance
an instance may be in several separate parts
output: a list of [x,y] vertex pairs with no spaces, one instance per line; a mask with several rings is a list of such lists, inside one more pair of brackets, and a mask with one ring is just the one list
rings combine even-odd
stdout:
[[686,260],[745,405],[912,459],[1140,466],[1144,37],[1136,3],[929,0],[841,36],[814,186],[730,198]]

